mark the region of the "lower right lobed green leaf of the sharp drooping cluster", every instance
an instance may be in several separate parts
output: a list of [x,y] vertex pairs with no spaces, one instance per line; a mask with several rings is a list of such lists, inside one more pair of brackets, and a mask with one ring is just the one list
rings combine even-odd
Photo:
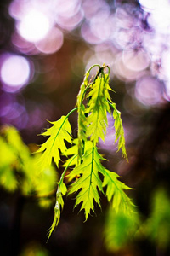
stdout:
[[112,207],[118,211],[130,213],[133,211],[133,202],[124,192],[124,189],[131,189],[117,178],[116,172],[103,169],[104,182],[103,187],[107,186],[105,195],[108,201],[112,201]]

